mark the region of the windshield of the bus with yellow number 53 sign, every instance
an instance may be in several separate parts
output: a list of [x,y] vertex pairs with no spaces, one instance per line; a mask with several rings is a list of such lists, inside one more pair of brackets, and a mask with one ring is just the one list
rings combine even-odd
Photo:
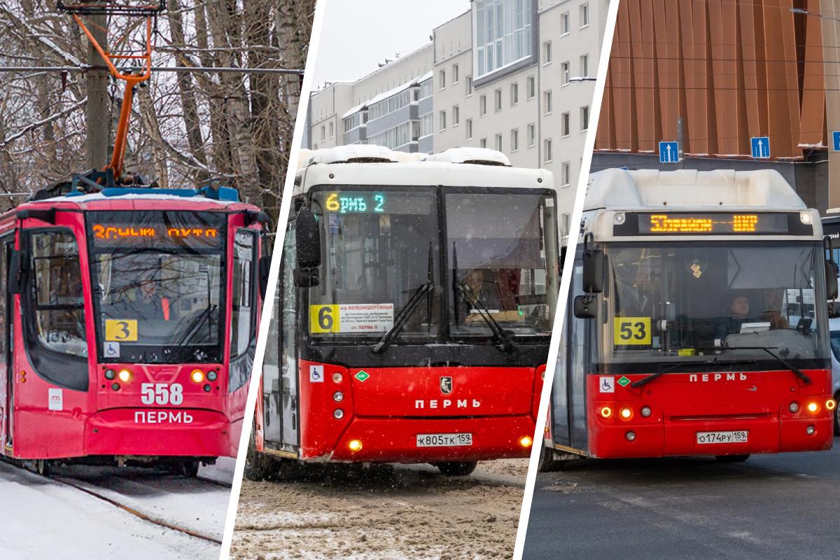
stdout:
[[829,357],[815,243],[622,243],[606,253],[608,361],[769,359],[761,348],[790,361]]

